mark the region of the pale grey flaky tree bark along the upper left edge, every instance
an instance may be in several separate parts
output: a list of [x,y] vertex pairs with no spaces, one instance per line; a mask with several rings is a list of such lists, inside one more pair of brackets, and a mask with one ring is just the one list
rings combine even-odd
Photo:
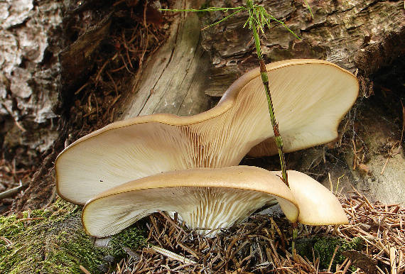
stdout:
[[61,5],[0,3],[0,150],[17,166],[36,165],[55,138]]

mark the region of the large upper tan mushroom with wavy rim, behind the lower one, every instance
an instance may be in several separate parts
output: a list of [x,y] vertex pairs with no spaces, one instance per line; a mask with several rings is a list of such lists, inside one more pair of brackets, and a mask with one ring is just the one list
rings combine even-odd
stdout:
[[[286,60],[266,68],[284,150],[332,141],[357,97],[356,78],[322,60]],[[209,111],[139,116],[75,141],[56,160],[57,191],[85,204],[110,187],[159,172],[237,165],[273,136],[260,72],[252,70]]]

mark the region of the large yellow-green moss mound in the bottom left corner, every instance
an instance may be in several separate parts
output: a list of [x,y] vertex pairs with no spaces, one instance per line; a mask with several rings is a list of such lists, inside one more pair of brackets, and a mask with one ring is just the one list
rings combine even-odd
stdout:
[[[82,230],[80,207],[53,207],[0,217],[0,273],[97,273],[104,254]],[[26,219],[30,218],[30,219]],[[38,218],[38,219],[35,219]]]

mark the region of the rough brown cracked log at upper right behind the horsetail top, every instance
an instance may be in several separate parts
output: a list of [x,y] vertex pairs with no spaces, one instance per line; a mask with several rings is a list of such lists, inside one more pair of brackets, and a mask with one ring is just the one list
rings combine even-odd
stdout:
[[[212,4],[221,6],[221,2]],[[269,13],[285,20],[302,38],[296,39],[281,25],[266,29],[261,35],[266,62],[291,58],[335,62],[357,74],[362,94],[368,96],[372,92],[370,75],[404,53],[404,2],[325,0],[309,3],[314,18],[303,1],[263,1]],[[205,23],[222,16],[222,13],[210,13]],[[238,75],[258,67],[252,34],[242,27],[246,19],[246,14],[239,13],[202,33],[202,46],[212,55],[210,86],[214,88],[206,91],[211,96],[222,95],[223,91],[215,87],[224,85],[224,79],[230,84]]]

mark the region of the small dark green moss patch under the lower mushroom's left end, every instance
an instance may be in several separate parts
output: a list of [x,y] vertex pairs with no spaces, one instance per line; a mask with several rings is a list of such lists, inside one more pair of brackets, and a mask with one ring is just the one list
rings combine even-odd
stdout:
[[136,250],[142,246],[146,245],[145,231],[139,229],[135,226],[130,226],[124,229],[119,234],[111,237],[108,246],[111,248],[108,252],[115,258],[121,258],[125,256],[125,251],[123,247],[131,248]]

